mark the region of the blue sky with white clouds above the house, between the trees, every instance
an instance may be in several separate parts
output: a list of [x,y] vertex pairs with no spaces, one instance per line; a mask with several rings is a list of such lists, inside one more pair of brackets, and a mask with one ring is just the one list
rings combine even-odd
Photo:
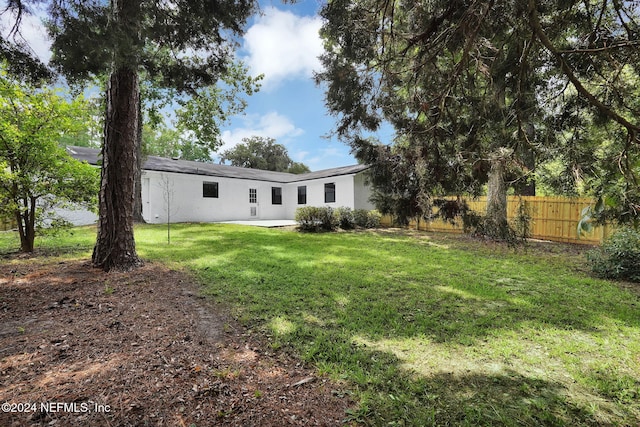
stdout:
[[[329,137],[335,119],[324,106],[323,88],[312,78],[313,71],[320,70],[321,4],[321,0],[299,0],[293,5],[261,1],[262,13],[250,20],[237,54],[252,75],[264,74],[262,88],[247,98],[245,114],[232,117],[223,128],[224,145],[219,152],[256,135],[274,138],[286,146],[293,160],[311,170],[356,163],[347,145]],[[39,19],[25,19],[22,32],[33,50],[47,60],[48,42]],[[388,142],[391,132],[378,136]]]

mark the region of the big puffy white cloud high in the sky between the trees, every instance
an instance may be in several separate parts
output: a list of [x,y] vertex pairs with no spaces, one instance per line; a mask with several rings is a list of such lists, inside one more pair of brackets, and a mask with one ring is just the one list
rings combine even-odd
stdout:
[[245,58],[254,75],[264,74],[264,87],[287,78],[310,78],[321,69],[319,17],[300,17],[274,7],[265,10],[245,35]]

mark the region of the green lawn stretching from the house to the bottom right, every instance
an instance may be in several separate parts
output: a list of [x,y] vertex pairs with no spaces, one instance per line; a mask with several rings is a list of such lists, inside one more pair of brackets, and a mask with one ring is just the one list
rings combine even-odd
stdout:
[[[88,256],[94,236],[36,244]],[[136,241],[144,258],[193,271],[273,348],[345,382],[351,421],[640,423],[640,290],[589,277],[568,246],[218,224],[175,225],[171,245],[143,226]]]

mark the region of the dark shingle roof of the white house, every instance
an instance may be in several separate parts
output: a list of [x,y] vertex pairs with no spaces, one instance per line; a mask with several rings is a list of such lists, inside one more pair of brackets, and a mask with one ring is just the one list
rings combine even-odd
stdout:
[[[100,150],[88,147],[67,147],[71,156],[92,165],[98,164]],[[325,169],[305,174],[291,174],[286,172],[272,172],[259,169],[240,168],[235,166],[218,165],[214,163],[192,162],[189,160],[173,160],[164,157],[148,156],[142,166],[144,170],[159,172],[175,172],[191,175],[216,176],[222,178],[252,179],[269,182],[298,182],[312,179],[330,178],[333,176],[352,175],[368,169],[367,165],[343,166]]]

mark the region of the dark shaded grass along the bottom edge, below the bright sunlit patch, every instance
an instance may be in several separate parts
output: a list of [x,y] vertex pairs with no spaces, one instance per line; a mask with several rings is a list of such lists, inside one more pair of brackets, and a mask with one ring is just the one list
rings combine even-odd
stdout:
[[[354,342],[349,332],[310,323],[291,322],[288,333],[272,335],[270,341],[275,348],[297,352],[321,373],[351,383],[360,403],[348,414],[349,421],[371,426],[514,427],[631,426],[640,421],[637,403],[600,387],[568,386],[544,372],[510,368],[508,361],[462,366],[443,361],[430,372],[417,372],[394,351]],[[610,375],[607,380],[619,377]],[[637,386],[614,392],[628,397]]]

